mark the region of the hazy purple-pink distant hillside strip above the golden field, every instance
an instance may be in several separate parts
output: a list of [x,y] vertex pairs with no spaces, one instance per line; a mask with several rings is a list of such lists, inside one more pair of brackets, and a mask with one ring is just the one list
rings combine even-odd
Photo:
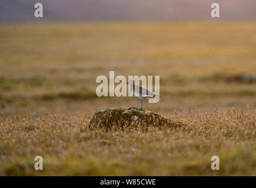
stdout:
[[[36,2],[43,19],[34,17]],[[254,0],[1,0],[0,22],[212,19],[213,2],[220,19],[256,19]]]

